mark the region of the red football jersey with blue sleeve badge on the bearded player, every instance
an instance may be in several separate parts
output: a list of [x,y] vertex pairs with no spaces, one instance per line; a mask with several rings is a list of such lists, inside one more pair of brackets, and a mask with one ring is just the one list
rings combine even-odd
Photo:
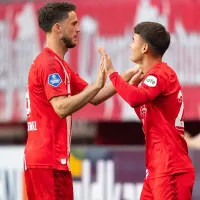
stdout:
[[60,118],[49,100],[73,96],[88,84],[49,48],[32,64],[28,77],[25,167],[69,170],[72,118]]

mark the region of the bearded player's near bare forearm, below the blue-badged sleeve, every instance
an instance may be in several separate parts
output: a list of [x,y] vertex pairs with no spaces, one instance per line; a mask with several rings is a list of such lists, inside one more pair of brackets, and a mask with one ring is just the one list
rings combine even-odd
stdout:
[[95,84],[92,84],[77,95],[63,98],[57,106],[57,113],[60,117],[65,118],[80,110],[94,98],[100,89],[101,88],[97,87]]

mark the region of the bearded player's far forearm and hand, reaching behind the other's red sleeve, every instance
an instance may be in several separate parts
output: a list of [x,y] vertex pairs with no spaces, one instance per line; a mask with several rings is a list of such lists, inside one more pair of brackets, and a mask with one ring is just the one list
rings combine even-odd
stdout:
[[[133,75],[134,75],[134,72],[133,73],[124,72],[121,75],[121,77],[123,78],[124,81],[128,82],[130,81]],[[98,105],[106,101],[107,99],[115,95],[116,93],[117,91],[115,87],[113,86],[111,82],[109,82],[104,85],[104,87],[99,91],[99,93],[93,99],[91,99],[90,103],[92,103],[93,105]]]

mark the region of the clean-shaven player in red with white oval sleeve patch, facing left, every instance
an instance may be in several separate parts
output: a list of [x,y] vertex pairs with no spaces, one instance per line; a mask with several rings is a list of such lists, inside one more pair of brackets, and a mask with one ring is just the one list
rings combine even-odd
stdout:
[[135,109],[146,138],[146,178],[140,200],[191,200],[194,168],[184,139],[184,103],[174,70],[162,62],[170,34],[155,22],[135,26],[131,60],[140,71],[126,83],[103,48],[103,65],[118,94]]

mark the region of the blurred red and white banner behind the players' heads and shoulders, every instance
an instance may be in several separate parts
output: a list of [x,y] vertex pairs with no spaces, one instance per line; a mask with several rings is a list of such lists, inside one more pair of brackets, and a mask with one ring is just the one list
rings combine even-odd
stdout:
[[[185,96],[185,117],[200,117],[200,2],[174,0],[73,0],[81,32],[79,43],[66,60],[89,83],[95,80],[100,57],[97,46],[106,48],[117,71],[134,66],[129,45],[135,24],[156,21],[171,33],[171,46],[164,57],[177,72]],[[36,10],[42,1],[0,3],[0,122],[26,119],[27,76],[35,56],[45,46],[37,25]],[[94,107],[86,106],[75,119],[138,120],[118,95]]]

